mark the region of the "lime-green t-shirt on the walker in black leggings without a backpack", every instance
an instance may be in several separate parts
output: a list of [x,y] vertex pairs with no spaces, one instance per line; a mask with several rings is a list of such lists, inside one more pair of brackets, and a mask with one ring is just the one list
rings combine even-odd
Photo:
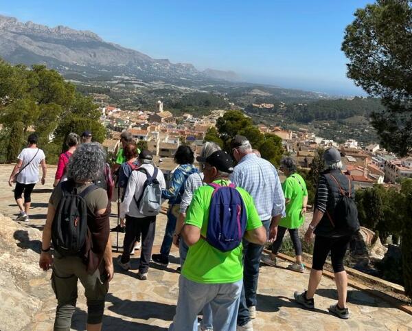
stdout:
[[304,196],[308,195],[306,183],[300,174],[291,174],[282,184],[285,199],[290,199],[286,204],[286,217],[280,220],[281,227],[288,229],[297,229],[304,222],[304,216],[301,214],[304,204]]

